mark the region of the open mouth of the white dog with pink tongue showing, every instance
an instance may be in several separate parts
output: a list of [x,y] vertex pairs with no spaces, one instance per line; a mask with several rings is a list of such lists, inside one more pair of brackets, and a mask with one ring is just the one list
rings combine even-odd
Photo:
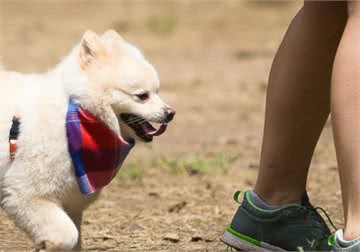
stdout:
[[156,129],[148,120],[134,114],[121,114],[120,117],[145,142],[151,142],[154,136],[162,135],[167,128],[167,124],[161,124]]

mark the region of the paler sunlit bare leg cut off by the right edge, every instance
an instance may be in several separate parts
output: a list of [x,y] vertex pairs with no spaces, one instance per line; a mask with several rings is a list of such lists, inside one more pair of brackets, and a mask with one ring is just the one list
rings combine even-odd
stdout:
[[360,237],[360,2],[348,2],[349,18],[336,54],[331,114],[343,195],[346,240]]

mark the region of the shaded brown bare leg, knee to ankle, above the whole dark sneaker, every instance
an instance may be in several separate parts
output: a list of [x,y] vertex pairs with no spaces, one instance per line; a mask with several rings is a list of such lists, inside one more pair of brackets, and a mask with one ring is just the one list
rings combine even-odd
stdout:
[[330,111],[345,2],[305,1],[273,62],[255,192],[269,204],[301,199],[308,167]]

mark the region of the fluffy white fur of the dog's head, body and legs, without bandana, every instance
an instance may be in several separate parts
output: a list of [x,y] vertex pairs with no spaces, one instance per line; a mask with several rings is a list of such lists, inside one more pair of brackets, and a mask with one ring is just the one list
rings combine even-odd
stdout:
[[[79,249],[82,212],[99,193],[82,196],[75,180],[64,126],[69,96],[123,138],[138,139],[118,115],[162,121],[169,107],[157,94],[157,73],[138,49],[110,30],[101,36],[85,32],[45,74],[0,69],[0,78],[1,206],[36,248]],[[150,95],[146,102],[136,98],[144,91]],[[8,133],[15,114],[21,115],[21,133],[11,162]]]

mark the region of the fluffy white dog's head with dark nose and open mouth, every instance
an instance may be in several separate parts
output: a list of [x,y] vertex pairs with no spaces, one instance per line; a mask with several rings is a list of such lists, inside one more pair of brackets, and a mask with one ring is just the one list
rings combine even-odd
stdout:
[[113,30],[101,36],[87,31],[79,59],[94,92],[115,113],[123,138],[150,142],[165,131],[175,110],[160,98],[157,72],[136,47]]

